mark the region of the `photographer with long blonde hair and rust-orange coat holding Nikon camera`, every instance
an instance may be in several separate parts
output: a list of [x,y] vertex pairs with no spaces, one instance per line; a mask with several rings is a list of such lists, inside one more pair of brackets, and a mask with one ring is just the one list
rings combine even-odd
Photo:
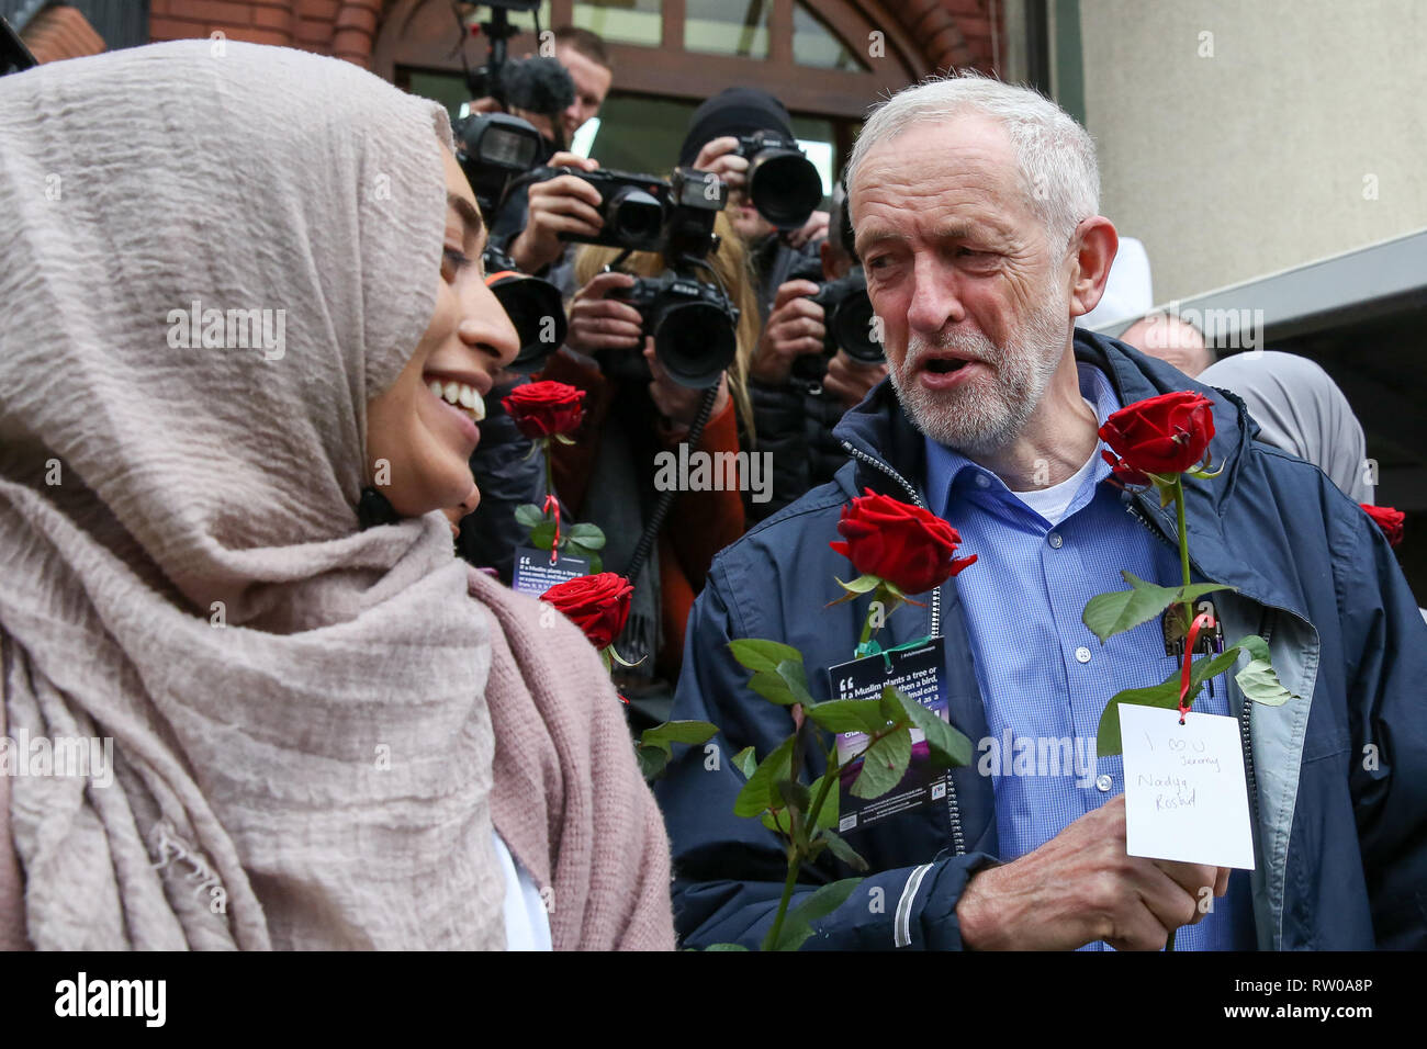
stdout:
[[[714,223],[722,238],[708,258],[733,305],[739,308],[736,353],[716,384],[716,400],[691,451],[736,452],[739,415],[746,418],[745,377],[758,330],[758,310],[746,278],[742,243],[723,214]],[[542,378],[586,391],[585,427],[574,445],[552,450],[561,504],[578,520],[604,529],[606,571],[625,572],[659,498],[655,460],[678,452],[688,441],[704,391],[675,382],[644,335],[641,313],[609,297],[628,293],[635,274],[655,277],[668,263],[656,253],[634,253],[626,273],[604,273],[615,248],[584,247],[575,257],[581,281],[569,308],[569,334]],[[666,704],[684,652],[684,627],[704,587],[714,555],[743,534],[743,504],[736,487],[686,490],[681,484],[664,520],[655,549],[634,579],[629,624],[616,642],[624,655],[648,652],[644,664],[624,672],[621,691],[635,706],[641,696]],[[668,682],[668,684],[665,684]]]

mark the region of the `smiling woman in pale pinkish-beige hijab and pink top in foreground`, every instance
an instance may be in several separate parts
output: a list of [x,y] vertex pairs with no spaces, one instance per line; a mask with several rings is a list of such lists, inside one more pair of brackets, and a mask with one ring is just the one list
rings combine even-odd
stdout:
[[440,514],[515,353],[450,147],[285,49],[0,80],[0,943],[674,945],[598,655]]

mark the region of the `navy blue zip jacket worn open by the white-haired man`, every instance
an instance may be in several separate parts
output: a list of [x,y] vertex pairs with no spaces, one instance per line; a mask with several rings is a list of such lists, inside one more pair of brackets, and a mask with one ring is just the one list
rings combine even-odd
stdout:
[[[1259,948],[1427,948],[1427,625],[1387,541],[1317,467],[1254,442],[1259,427],[1233,395],[1080,330],[1075,354],[1109,375],[1120,404],[1172,390],[1214,401],[1213,461],[1226,470],[1186,484],[1192,567],[1196,578],[1237,587],[1216,595],[1224,637],[1266,637],[1280,679],[1303,696],[1277,708],[1246,704],[1226,678],[1247,741]],[[842,505],[863,488],[925,505],[923,438],[889,382],[836,432],[852,460],[833,482],[725,549],[689,621],[672,716],[712,721],[721,732],[718,751],[686,748],[656,788],[685,946],[756,946],[786,875],[778,838],[732,812],[742,775],[729,758],[748,745],[765,756],[792,732],[792,719],[746,688],[728,641],[798,647],[813,694],[826,698],[823,671],[848,659],[866,605],[823,607],[841,597],[833,577],[846,578],[846,559],[828,548]],[[1122,498],[1126,512],[1177,549],[1173,507]],[[883,634],[892,644],[946,637],[950,719],[977,741],[987,735],[986,718],[963,617],[949,579],[925,609],[890,615]],[[819,775],[822,755],[812,754],[808,768]],[[872,873],[815,925],[809,948],[962,946],[958,899],[970,876],[999,859],[992,781],[975,764],[950,781],[945,805],[848,835]],[[852,875],[825,853],[801,875],[793,905]]]

